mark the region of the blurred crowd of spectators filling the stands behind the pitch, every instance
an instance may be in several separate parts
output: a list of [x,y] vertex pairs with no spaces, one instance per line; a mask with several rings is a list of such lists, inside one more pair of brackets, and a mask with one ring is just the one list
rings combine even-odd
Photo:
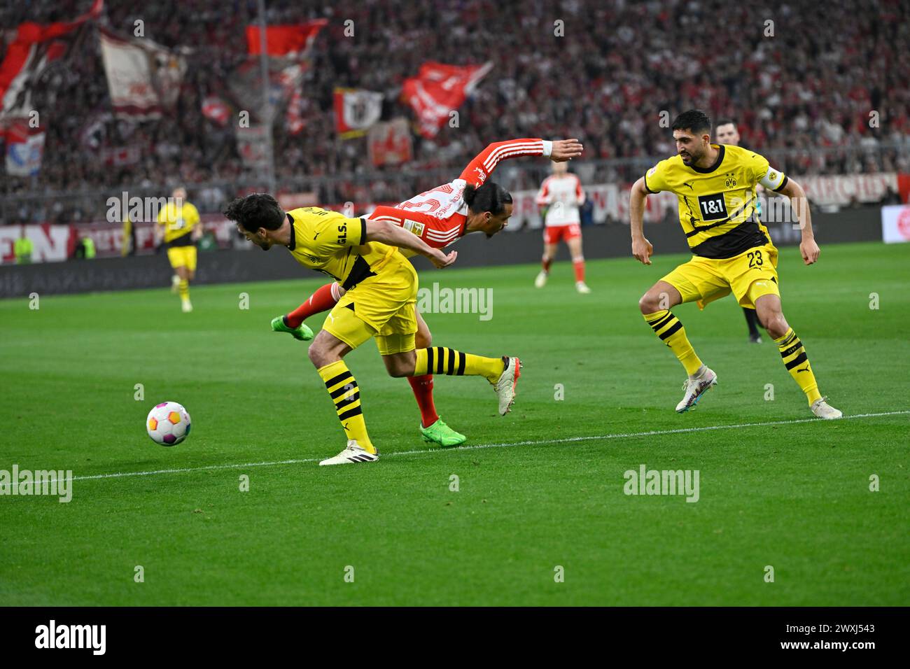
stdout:
[[[16,25],[71,20],[90,4],[0,5],[0,50]],[[777,152],[794,173],[910,170],[910,5],[902,0],[849,0],[824,10],[812,0],[266,4],[269,24],[329,19],[303,85],[305,127],[296,136],[275,128],[282,188],[316,189],[326,202],[401,199],[436,185],[437,174],[449,180],[489,141],[508,137],[579,137],[587,158],[666,156],[674,149],[661,113],[690,107],[737,119],[743,144],[769,157]],[[46,110],[43,166],[37,177],[5,177],[0,198],[22,196],[3,210],[6,222],[96,217],[101,198],[47,197],[65,192],[260,184],[261,173],[244,167],[231,124],[219,127],[201,112],[202,100],[224,95],[248,57],[244,29],[255,23],[256,5],[106,0],[100,25],[129,34],[141,19],[157,43],[192,49],[177,108],[142,123],[113,117],[95,28],[86,26],[38,91],[36,106]],[[347,19],[353,37],[343,33]],[[432,139],[415,135],[413,162],[382,173],[369,165],[365,139],[337,137],[332,91],[381,91],[384,118],[412,117],[400,87],[427,60],[490,60],[493,68],[460,109],[460,127],[442,127]],[[117,166],[103,158],[103,149],[124,146],[136,147],[134,160]],[[529,178],[511,187],[536,185]],[[217,209],[233,195],[227,188],[207,188],[200,209]]]

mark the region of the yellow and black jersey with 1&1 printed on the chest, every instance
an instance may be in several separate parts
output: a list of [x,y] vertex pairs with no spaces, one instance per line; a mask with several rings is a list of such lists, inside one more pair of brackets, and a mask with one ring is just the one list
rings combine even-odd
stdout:
[[726,144],[712,167],[687,166],[679,156],[662,160],[644,175],[649,193],[669,190],[679,198],[682,231],[693,254],[733,258],[771,243],[758,216],[756,184],[779,191],[787,177],[749,149]]

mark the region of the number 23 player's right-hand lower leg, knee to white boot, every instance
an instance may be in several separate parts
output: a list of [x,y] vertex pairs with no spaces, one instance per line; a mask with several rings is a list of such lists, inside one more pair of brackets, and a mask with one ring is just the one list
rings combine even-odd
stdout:
[[772,292],[767,290],[767,286],[760,285],[763,283],[765,282],[753,282],[750,298],[754,301],[758,318],[762,320],[768,335],[777,344],[784,367],[805,393],[809,408],[816,416],[827,419],[841,418],[843,415],[841,411],[834,409],[824,401],[822,393],[818,390],[818,382],[815,380],[815,374],[809,358],[806,356],[803,342],[784,318],[781,298],[776,292],[777,284],[773,284]]

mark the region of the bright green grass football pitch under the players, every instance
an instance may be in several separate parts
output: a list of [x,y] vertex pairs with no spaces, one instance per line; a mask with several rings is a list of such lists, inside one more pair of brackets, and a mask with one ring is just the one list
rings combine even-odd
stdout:
[[[349,366],[383,458],[332,468],[316,461],[343,436],[307,345],[268,327],[323,282],[306,270],[194,287],[188,315],[167,289],[0,302],[0,469],[177,470],[77,478],[69,503],[0,497],[0,603],[910,602],[910,247],[828,246],[812,268],[782,251],[784,312],[824,394],[847,415],[905,412],[835,422],[790,422],[811,418],[804,396],[733,299],[674,309],[720,380],[674,413],[682,367],[636,302],[681,259],[589,262],[590,296],[566,262],[541,290],[531,266],[422,273],[493,289],[488,321],[427,320],[437,345],[521,356],[515,411],[496,415],[483,380],[437,377],[471,448],[429,450],[410,386],[368,344]],[[170,449],[145,433],[163,400],[193,418]],[[642,463],[700,471],[699,501],[623,494]]]

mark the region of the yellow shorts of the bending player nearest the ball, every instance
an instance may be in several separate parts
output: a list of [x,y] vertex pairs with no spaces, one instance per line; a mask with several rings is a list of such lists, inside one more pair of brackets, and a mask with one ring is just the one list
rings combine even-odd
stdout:
[[322,329],[351,349],[374,337],[380,355],[414,350],[417,287],[414,266],[392,258],[378,275],[363,279],[339,299]]

